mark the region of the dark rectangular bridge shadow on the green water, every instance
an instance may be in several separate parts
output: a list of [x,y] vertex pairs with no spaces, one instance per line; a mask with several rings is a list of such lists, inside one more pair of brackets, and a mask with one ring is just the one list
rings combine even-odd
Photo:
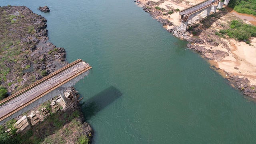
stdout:
[[97,112],[104,109],[106,106],[114,102],[120,96],[122,96],[122,92],[120,92],[120,90],[118,90],[114,86],[110,86],[105,90],[102,90],[100,93],[94,95],[86,102],[83,102],[81,104],[81,107],[82,111],[84,112],[85,120],[89,120]]

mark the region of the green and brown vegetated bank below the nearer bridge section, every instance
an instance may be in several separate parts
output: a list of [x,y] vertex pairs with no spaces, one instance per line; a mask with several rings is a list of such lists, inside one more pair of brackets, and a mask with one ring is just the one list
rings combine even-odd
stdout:
[[[48,103],[42,104],[38,109],[48,106]],[[50,112],[50,116],[32,126],[24,135],[16,133],[17,129],[13,124],[17,120],[9,120],[0,125],[0,144],[89,144],[92,134],[87,136],[87,124],[82,123],[83,115],[76,107],[78,105],[77,103],[72,108]],[[5,132],[8,128],[11,131]]]

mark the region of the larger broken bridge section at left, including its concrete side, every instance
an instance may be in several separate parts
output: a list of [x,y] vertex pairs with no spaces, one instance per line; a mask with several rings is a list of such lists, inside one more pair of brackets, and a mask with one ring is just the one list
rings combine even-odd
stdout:
[[39,80],[32,86],[1,100],[0,124],[31,110],[55,96],[61,95],[62,98],[65,98],[63,96],[65,89],[74,86],[76,82],[87,76],[91,68],[88,63],[76,60]]

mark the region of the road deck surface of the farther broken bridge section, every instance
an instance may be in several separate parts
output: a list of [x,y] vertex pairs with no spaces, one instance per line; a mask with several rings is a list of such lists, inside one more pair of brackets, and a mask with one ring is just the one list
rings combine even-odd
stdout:
[[204,8],[210,6],[210,5],[213,5],[213,4],[215,4],[219,1],[220,0],[215,0],[214,2],[212,2],[212,0],[206,0],[204,2],[196,4],[195,6],[191,6],[189,8],[184,9],[184,10],[181,10],[180,15],[190,15],[190,14],[192,14],[194,12],[197,12],[199,10],[202,10],[202,9],[204,9]]

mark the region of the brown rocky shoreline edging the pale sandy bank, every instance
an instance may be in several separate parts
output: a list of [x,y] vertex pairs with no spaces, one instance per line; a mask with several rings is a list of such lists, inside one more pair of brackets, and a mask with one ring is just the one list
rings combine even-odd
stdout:
[[[231,52],[227,42],[215,34],[216,30],[209,29],[208,27],[210,27],[209,24],[213,24],[220,19],[220,17],[228,15],[228,12],[226,10],[216,12],[213,15],[214,18],[195,18],[188,25],[188,27],[192,29],[185,31],[180,29],[178,26],[175,26],[175,24],[169,20],[170,15],[174,12],[178,13],[179,9],[175,9],[174,7],[170,7],[168,5],[165,5],[168,10],[158,7],[164,2],[165,0],[160,0],[157,2],[145,0],[144,2],[140,2],[139,6],[141,6],[145,12],[148,12],[154,19],[158,20],[158,22],[160,22],[168,32],[180,39],[187,40],[189,42],[187,44],[189,49],[195,50],[206,58],[206,60],[212,62],[214,61],[212,68],[214,68],[217,72],[220,72],[220,74],[226,78],[226,80],[228,80],[230,86],[242,90],[244,95],[255,99],[256,85],[251,85],[248,78],[226,72],[225,70],[218,68],[216,65],[216,62],[223,60],[225,57],[229,56]],[[170,13],[170,15],[168,15],[168,13]],[[228,26],[221,23],[218,24],[217,27],[220,27],[221,29]],[[194,38],[194,35],[196,35],[196,38]],[[225,50],[216,49],[215,47],[217,46],[221,46]],[[237,67],[234,67],[234,69],[238,70]]]

